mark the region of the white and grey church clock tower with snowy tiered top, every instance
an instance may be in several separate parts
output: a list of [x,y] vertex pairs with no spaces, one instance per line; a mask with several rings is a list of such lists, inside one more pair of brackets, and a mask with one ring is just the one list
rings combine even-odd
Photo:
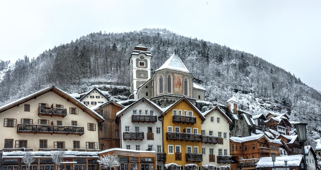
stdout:
[[147,51],[148,48],[141,44],[134,47],[134,50],[129,58],[130,79],[131,79],[131,96],[137,99],[137,89],[140,85],[151,78],[151,59],[152,54]]

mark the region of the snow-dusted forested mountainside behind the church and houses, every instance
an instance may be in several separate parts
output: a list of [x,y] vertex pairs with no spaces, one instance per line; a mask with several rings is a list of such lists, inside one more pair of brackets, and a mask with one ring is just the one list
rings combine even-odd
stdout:
[[299,77],[250,53],[166,29],[90,33],[38,57],[24,56],[13,66],[1,61],[0,105],[52,85],[78,93],[88,90],[72,85],[80,81],[129,83],[129,56],[139,39],[152,52],[152,70],[176,49],[211,103],[225,104],[235,96],[241,109],[253,114],[286,112],[293,121],[309,122],[311,130],[321,129],[321,94]]

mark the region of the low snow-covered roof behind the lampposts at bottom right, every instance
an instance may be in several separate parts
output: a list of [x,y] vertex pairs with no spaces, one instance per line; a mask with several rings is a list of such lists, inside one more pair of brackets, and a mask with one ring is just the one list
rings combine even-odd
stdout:
[[[288,161],[287,166],[300,166],[303,155],[291,155],[291,156],[283,156],[283,157],[275,157],[274,166],[282,166],[284,167],[284,161]],[[256,163],[256,168],[264,168],[264,167],[273,167],[272,157],[262,157]]]

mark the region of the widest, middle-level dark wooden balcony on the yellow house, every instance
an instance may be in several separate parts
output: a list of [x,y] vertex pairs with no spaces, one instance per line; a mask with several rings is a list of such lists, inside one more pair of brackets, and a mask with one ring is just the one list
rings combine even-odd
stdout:
[[181,133],[181,132],[167,132],[166,133],[166,139],[173,139],[173,140],[186,140],[186,141],[202,141],[202,135],[201,134],[195,134],[195,133]]

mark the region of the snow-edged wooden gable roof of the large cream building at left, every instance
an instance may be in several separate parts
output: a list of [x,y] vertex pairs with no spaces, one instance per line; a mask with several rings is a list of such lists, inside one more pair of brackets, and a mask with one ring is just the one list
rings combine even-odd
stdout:
[[38,92],[35,92],[33,94],[30,94],[26,97],[23,97],[21,99],[18,99],[14,102],[8,103],[2,107],[0,107],[0,113],[7,111],[13,107],[19,106],[20,104],[23,104],[25,102],[28,102],[32,99],[36,99],[37,97],[46,94],[48,92],[54,92],[55,94],[57,94],[58,96],[66,99],[68,102],[74,104],[75,106],[79,107],[80,109],[82,109],[83,112],[86,112],[87,114],[89,114],[92,118],[94,118],[97,122],[101,123],[104,120],[104,118],[102,116],[100,116],[98,113],[96,113],[95,111],[93,111],[91,108],[87,107],[85,104],[83,104],[82,102],[79,102],[79,100],[77,100],[76,98],[72,97],[71,95],[69,95],[68,93],[58,89],[55,86],[51,86],[48,88],[45,88],[43,90],[40,90]]

